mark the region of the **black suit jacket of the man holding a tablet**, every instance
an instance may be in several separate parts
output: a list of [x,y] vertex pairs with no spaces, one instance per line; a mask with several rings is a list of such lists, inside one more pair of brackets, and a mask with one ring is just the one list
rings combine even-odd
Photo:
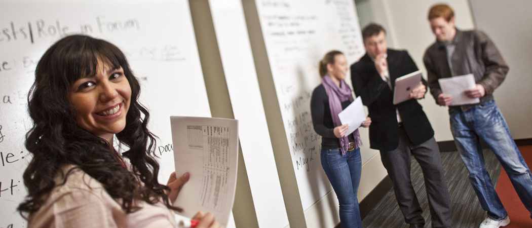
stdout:
[[[388,71],[392,88],[395,79],[418,70],[414,61],[404,50],[388,49]],[[351,80],[356,96],[368,106],[371,125],[369,127],[370,147],[378,150],[394,150],[399,143],[399,126],[395,108],[399,111],[403,127],[410,141],[419,145],[434,136],[427,115],[416,99],[393,105],[393,89],[380,77],[375,63],[366,53],[359,62],[351,65]],[[423,84],[427,86],[425,79]]]

